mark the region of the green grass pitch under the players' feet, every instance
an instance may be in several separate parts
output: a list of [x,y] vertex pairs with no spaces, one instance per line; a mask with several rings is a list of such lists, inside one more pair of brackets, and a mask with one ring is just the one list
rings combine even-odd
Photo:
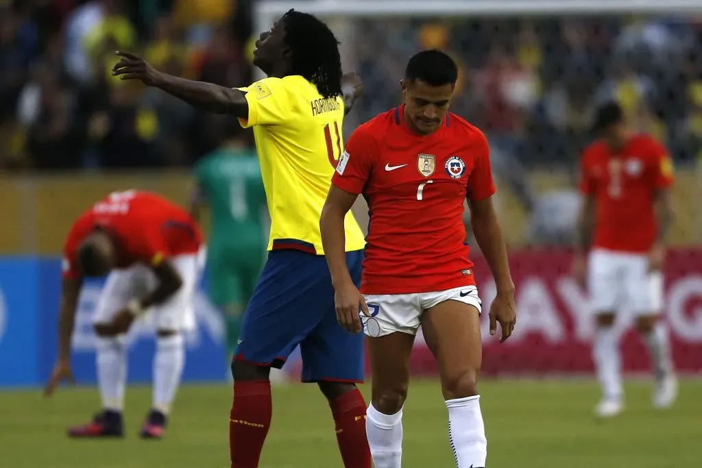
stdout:
[[[364,386],[367,394],[369,387]],[[629,382],[627,409],[597,421],[590,381],[496,380],[481,384],[489,468],[693,468],[702,466],[702,382],[682,382],[675,408],[656,412],[648,382]],[[312,385],[274,387],[273,424],[260,468],[336,468],[333,423]],[[227,385],[185,386],[163,441],[138,429],[150,389],[128,390],[122,440],[71,441],[70,424],[98,406],[91,388],[0,393],[0,466],[8,468],[178,468],[229,466]],[[446,409],[438,383],[415,381],[404,411],[405,468],[451,468]]]

